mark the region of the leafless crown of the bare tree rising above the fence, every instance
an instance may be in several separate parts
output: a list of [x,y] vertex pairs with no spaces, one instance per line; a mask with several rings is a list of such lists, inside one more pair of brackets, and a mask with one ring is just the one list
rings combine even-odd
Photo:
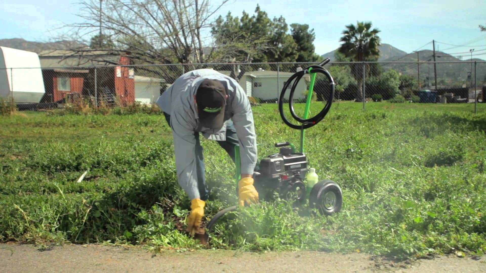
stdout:
[[[86,55],[100,49],[100,39],[110,39],[107,52],[130,56],[141,64],[205,63],[202,34],[210,28],[210,18],[228,0],[210,7],[208,0],[81,0],[78,17],[84,22],[66,25],[70,40],[90,44],[93,35],[103,35],[90,48],[73,48],[75,54]],[[74,55],[75,55],[74,54]],[[69,56],[72,58],[72,56]],[[95,57],[95,56],[93,56]]]

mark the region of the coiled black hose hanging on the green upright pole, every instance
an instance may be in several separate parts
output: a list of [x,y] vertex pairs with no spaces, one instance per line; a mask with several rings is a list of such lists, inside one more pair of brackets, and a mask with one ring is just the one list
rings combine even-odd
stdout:
[[[298,130],[311,128],[312,126],[314,126],[315,124],[317,124],[319,121],[321,121],[322,119],[324,119],[324,117],[326,116],[326,114],[329,112],[329,109],[331,108],[331,104],[332,104],[332,99],[334,98],[334,86],[335,86],[335,84],[334,84],[334,80],[332,79],[332,76],[328,72],[328,70],[326,70],[325,68],[322,67],[323,65],[327,64],[329,62],[329,60],[330,59],[327,58],[326,60],[324,60],[323,62],[321,62],[319,65],[310,66],[308,68],[305,68],[302,71],[296,72],[294,75],[292,75],[287,80],[287,82],[285,83],[285,85],[283,85],[282,92],[280,93],[280,99],[278,101],[278,111],[280,112],[280,117],[282,117],[283,122],[285,122],[285,124],[287,124],[289,127],[293,128],[293,129],[298,129]],[[298,117],[297,115],[295,115],[294,102],[293,102],[292,99],[294,97],[295,88],[297,87],[298,82],[300,81],[300,79],[302,78],[302,76],[304,76],[305,74],[309,73],[309,69],[310,68],[312,68],[311,69],[311,73],[322,73],[322,74],[324,74],[329,79],[329,82],[330,82],[330,85],[331,85],[331,93],[330,93],[330,96],[328,97],[328,100],[326,102],[326,105],[321,110],[321,112],[319,112],[317,115],[313,116],[312,118],[309,118],[309,119],[301,119],[300,117]],[[285,114],[283,113],[283,102],[284,102],[285,92],[287,91],[287,88],[289,87],[290,83],[292,83],[292,82],[294,82],[294,84],[292,85],[292,88],[290,89],[290,94],[289,94],[290,114],[292,115],[292,117],[294,117],[295,120],[297,120],[298,122],[302,123],[300,125],[293,124],[292,122],[290,122],[285,117]]]

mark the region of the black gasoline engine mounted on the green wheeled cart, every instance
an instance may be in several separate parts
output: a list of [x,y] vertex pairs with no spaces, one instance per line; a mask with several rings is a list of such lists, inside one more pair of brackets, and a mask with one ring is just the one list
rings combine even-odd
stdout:
[[[277,143],[276,147],[289,145],[288,142]],[[282,199],[295,194],[297,203],[306,201],[307,158],[303,153],[293,153],[290,147],[281,147],[280,153],[270,154],[260,160],[258,171],[254,175],[255,188],[260,199],[271,199],[277,192]]]

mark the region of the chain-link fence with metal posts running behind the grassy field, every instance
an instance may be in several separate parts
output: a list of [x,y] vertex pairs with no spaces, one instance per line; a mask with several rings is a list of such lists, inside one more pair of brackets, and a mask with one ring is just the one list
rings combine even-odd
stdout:
[[[210,68],[235,79],[254,104],[276,103],[296,72],[317,63],[175,64],[0,69],[0,98],[19,110],[69,104],[113,107],[153,104],[182,74]],[[325,66],[335,82],[334,101],[483,102],[486,62],[360,62]],[[435,76],[436,75],[436,76]],[[306,101],[311,76],[295,85],[293,101]],[[292,86],[294,83],[289,85]],[[429,90],[429,91],[426,91]],[[286,91],[284,101],[289,100]],[[313,101],[327,101],[329,80],[316,74]],[[476,105],[476,104],[475,104]],[[474,110],[476,107],[474,107]]]

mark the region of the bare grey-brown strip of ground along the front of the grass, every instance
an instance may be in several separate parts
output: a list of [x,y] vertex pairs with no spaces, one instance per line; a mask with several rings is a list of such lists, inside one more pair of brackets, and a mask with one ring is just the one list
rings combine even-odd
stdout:
[[156,253],[139,247],[0,244],[0,272],[486,272],[485,258],[437,256],[391,261],[366,254],[314,251],[264,254],[226,250]]

